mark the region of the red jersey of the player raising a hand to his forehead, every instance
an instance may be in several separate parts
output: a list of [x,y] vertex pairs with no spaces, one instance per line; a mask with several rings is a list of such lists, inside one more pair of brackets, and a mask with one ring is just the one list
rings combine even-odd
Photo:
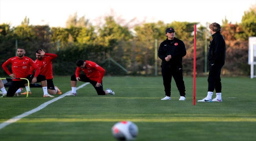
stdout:
[[[57,58],[56,54],[45,53],[44,57],[41,60],[35,60],[34,63],[40,68],[41,75],[44,75],[46,80],[52,79],[52,60]],[[35,69],[30,67],[30,72],[33,74]]]

